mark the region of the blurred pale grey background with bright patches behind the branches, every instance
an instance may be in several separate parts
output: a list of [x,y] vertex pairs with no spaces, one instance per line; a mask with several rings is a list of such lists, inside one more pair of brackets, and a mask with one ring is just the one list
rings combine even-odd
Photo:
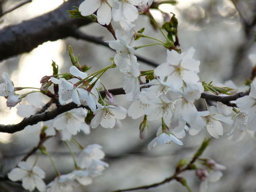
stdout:
[[[3,10],[8,10],[19,2],[2,0],[0,5]],[[3,21],[0,23],[0,28],[3,29],[8,25],[15,25],[23,20],[47,13],[62,3],[63,0],[33,0],[1,17],[0,20]],[[240,86],[250,77],[253,63],[248,55],[256,54],[255,36],[253,37],[256,25],[255,0],[179,0],[177,5],[162,4],[159,8],[163,12],[176,14],[179,21],[178,36],[181,50],[195,48],[194,58],[201,61],[201,81],[213,80],[215,84],[220,84],[232,79]],[[159,10],[152,10],[152,14],[159,23],[163,22]],[[254,25],[246,25],[252,22]],[[162,38],[161,34],[153,29],[150,20],[145,15],[140,15],[135,23],[136,30],[145,27],[144,34]],[[113,26],[115,29],[120,28],[117,23],[113,23]],[[103,40],[113,40],[111,34],[98,24],[90,24],[81,27],[80,30],[88,35],[103,37]],[[136,42],[136,46],[148,42],[151,41],[140,39]],[[45,42],[29,53],[1,61],[0,72],[1,74],[8,72],[15,87],[40,87],[41,77],[52,73],[52,60],[59,66],[60,73],[68,72],[71,66],[68,46],[73,47],[75,55],[81,55],[81,64],[92,66],[89,73],[110,65],[109,58],[115,54],[101,45],[68,37]],[[157,63],[166,61],[166,50],[163,47],[154,46],[139,49],[136,52]],[[154,68],[140,62],[140,69]],[[108,89],[122,87],[122,75],[118,69],[108,71],[102,76],[101,81]],[[122,95],[116,96],[115,99],[117,104],[126,109],[131,104],[125,101]],[[199,107],[201,102],[199,100]],[[14,124],[22,120],[16,115],[16,111],[16,108],[9,110],[6,106],[6,99],[1,98],[0,124]],[[112,191],[160,182],[175,172],[179,159],[192,157],[204,137],[209,136],[206,132],[201,132],[197,136],[187,134],[182,139],[183,146],[163,145],[148,151],[147,144],[155,137],[159,122],[151,122],[147,139],[140,140],[139,124],[141,121],[141,118],[132,120],[127,117],[115,129],[98,127],[91,130],[90,135],[81,133],[75,137],[84,146],[93,143],[102,145],[106,154],[104,161],[108,162],[110,167],[104,171],[102,176],[95,178],[93,184],[75,188],[74,191]],[[228,130],[225,131],[228,132]],[[6,175],[32,147],[37,145],[38,140],[38,130],[32,133],[26,129],[15,134],[0,133],[0,175]],[[52,138],[46,142],[46,146],[62,174],[74,169],[72,158],[65,144]],[[79,152],[75,146],[74,151],[77,154]],[[212,139],[210,147],[202,157],[212,158],[225,165],[227,169],[223,172],[224,175],[220,181],[209,184],[207,191],[256,191],[255,151],[256,141],[250,134],[246,134],[240,141],[230,139],[226,135],[220,139]],[[33,163],[34,159],[35,156],[31,156],[29,161]],[[38,165],[47,174],[45,181],[49,183],[53,180],[55,173],[49,159],[40,155]],[[196,178],[195,172],[187,172],[181,176],[187,179],[193,191],[199,191],[200,180]],[[2,181],[0,191],[25,190],[11,182]],[[174,192],[186,191],[186,188],[172,181],[147,191]]]

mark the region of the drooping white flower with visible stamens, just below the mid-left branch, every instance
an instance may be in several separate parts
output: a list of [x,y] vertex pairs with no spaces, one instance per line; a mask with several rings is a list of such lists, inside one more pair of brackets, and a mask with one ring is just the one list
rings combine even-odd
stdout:
[[99,124],[105,128],[113,128],[116,123],[116,119],[124,119],[126,117],[126,111],[118,108],[114,105],[103,106],[97,104],[98,109],[95,112],[95,116],[91,121],[91,127],[96,128]]

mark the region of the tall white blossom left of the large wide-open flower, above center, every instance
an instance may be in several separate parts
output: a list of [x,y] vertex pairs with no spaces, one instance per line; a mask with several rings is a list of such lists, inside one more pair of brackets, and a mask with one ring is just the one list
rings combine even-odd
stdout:
[[117,52],[114,56],[114,61],[120,72],[124,73],[124,71],[127,70],[127,66],[130,66],[131,74],[134,77],[138,77],[140,75],[139,64],[137,62],[137,57],[134,55],[135,50],[130,46],[133,35],[134,28],[124,35],[116,30],[117,39],[107,42],[109,42],[109,46]]

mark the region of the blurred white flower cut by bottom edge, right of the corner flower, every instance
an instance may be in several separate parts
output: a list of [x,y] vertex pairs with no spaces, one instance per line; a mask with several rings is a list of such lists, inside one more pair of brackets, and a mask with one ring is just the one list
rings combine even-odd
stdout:
[[47,192],[73,192],[73,186],[78,186],[74,179],[73,174],[58,176],[47,185]]

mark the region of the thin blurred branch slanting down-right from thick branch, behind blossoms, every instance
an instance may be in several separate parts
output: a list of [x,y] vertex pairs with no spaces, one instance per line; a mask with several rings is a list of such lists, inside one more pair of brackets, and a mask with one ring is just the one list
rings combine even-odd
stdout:
[[[74,38],[86,40],[86,41],[89,41],[89,42],[93,42],[97,45],[102,45],[102,46],[105,46],[105,47],[108,47],[109,49],[111,49],[109,47],[109,44],[102,40],[102,37],[94,37],[94,36],[91,36],[91,35],[87,35],[87,34],[84,34],[84,33],[82,33],[81,31],[79,31],[77,29],[73,30],[72,36]],[[113,50],[113,49],[111,49],[111,50]],[[153,62],[152,60],[148,60],[148,59],[146,59],[144,57],[141,57],[139,55],[135,55],[135,56],[137,57],[137,59],[139,61],[144,62],[147,65],[150,65],[150,66],[153,66],[153,67],[157,67],[159,65],[158,63]]]

